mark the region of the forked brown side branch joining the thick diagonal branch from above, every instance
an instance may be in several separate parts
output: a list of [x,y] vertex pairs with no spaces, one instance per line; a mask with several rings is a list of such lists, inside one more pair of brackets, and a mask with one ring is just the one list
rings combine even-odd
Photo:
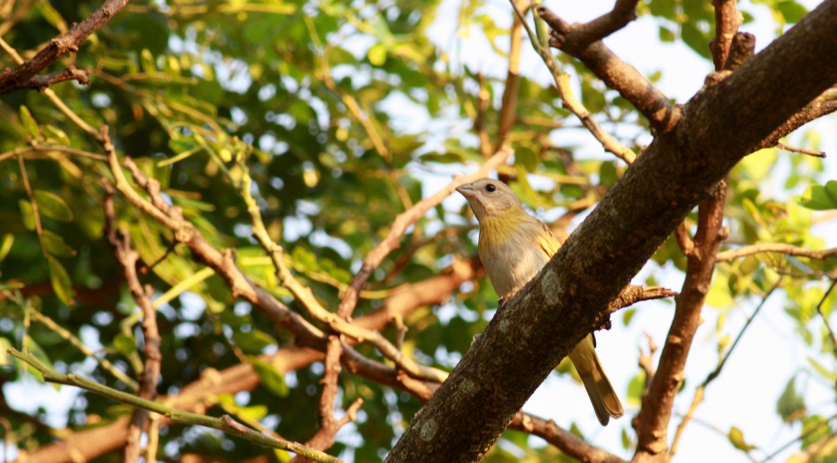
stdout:
[[667,133],[680,121],[680,108],[602,42],[636,17],[635,7],[635,0],[619,0],[612,12],[586,24],[567,23],[546,7],[538,7],[537,12],[552,28],[551,46],[584,63],[608,87],[636,106],[655,131]]

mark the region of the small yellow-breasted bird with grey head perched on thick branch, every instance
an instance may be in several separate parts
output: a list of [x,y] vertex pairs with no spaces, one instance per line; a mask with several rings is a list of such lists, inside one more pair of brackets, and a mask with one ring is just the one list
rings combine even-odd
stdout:
[[[456,188],[480,223],[478,244],[485,273],[501,300],[525,286],[555,255],[561,242],[540,219],[526,212],[506,183],[483,178]],[[598,422],[624,414],[619,396],[604,373],[593,333],[569,354],[593,404]]]

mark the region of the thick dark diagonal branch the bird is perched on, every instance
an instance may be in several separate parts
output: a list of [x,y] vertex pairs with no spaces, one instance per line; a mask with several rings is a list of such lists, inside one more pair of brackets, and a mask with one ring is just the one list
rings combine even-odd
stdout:
[[608,302],[686,214],[752,147],[837,81],[835,28],[837,0],[825,0],[693,97],[675,131],[655,138],[546,268],[498,312],[388,461],[485,455],[552,368],[603,324]]

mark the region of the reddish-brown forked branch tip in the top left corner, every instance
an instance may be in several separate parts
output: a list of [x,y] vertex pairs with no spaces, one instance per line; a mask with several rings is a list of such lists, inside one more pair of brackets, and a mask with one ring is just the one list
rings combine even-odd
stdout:
[[50,40],[49,44],[32,59],[20,64],[15,69],[8,69],[0,74],[0,95],[23,89],[44,90],[50,84],[61,80],[75,79],[83,84],[86,83],[87,73],[72,66],[58,73],[36,75],[53,64],[62,54],[78,51],[81,42],[107,23],[127,3],[128,0],[107,0],[90,17],[75,24],[67,33]]

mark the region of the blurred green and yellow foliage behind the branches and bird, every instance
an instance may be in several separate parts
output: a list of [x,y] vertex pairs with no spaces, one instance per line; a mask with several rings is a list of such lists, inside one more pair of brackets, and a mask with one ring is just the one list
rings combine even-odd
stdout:
[[[0,23],[3,39],[24,59],[100,6],[46,0],[2,4],[7,13]],[[48,70],[69,64],[89,69],[88,86],[54,85],[60,100],[91,126],[110,126],[117,151],[157,178],[167,198],[211,244],[236,249],[248,275],[291,308],[299,308],[278,286],[270,262],[251,238],[252,224],[237,190],[242,172],[236,162],[244,160],[272,238],[285,247],[300,281],[333,309],[341,289],[398,213],[434,193],[454,173],[472,170],[485,159],[475,127],[481,124],[490,136],[498,131],[505,72],[495,73],[503,77],[483,75],[451,54],[470,53],[461,49],[460,40],[480,31],[486,53],[505,59],[511,8],[477,0],[456,5],[457,16],[439,17],[443,5],[437,0],[138,1],[81,44],[77,54],[64,56]],[[770,8],[778,32],[806,11],[793,0],[759,6]],[[655,18],[660,41],[682,41],[711,59],[706,46],[713,34],[710,3],[653,0],[640,3],[639,14]],[[746,8],[744,18],[752,19]],[[440,21],[456,23],[457,35],[434,36],[432,27]],[[583,65],[562,55],[559,60],[572,71],[588,109],[639,152],[648,141],[641,116]],[[7,54],[2,63],[13,67]],[[660,67],[665,72],[665,64]],[[488,111],[481,105],[485,101]],[[605,153],[574,156],[577,147],[560,142],[564,131],[578,131],[579,125],[546,81],[523,75],[513,111],[515,125],[508,140],[516,156],[501,168],[501,175],[524,203],[547,212],[557,229],[572,229],[627,167]],[[809,149],[820,143],[815,132],[798,140]],[[25,331],[30,350],[60,372],[84,373],[125,388],[90,352],[70,341],[80,339],[96,357],[110,360],[131,377],[141,368],[136,303],[102,234],[100,178],[109,177],[107,168],[59,149],[26,152],[22,165],[15,150],[25,147],[100,153],[96,142],[44,95],[18,91],[0,96],[0,360],[5,365],[0,366],[0,381],[4,390],[31,384],[28,373],[5,356],[5,347],[21,346]],[[780,162],[788,168],[773,168]],[[829,178],[834,172],[824,172],[818,158],[777,150],[747,157],[732,172],[727,244],[833,246],[834,239],[827,243],[822,234],[812,233],[812,225],[835,217],[837,183],[827,183]],[[199,273],[203,265],[188,250],[174,247],[168,252],[168,229],[123,198],[116,201],[121,228],[130,230],[145,265],[153,265],[142,275],[143,283],[157,297],[183,281],[193,283],[187,291],[167,294],[171,299],[158,310],[160,394],[177,394],[208,368],[229,368],[293,341],[249,304],[234,301],[217,275]],[[691,229],[694,219],[687,222]],[[40,234],[36,222],[42,226]],[[474,238],[475,226],[463,201],[432,209],[375,271],[356,315],[380,308],[398,285],[439,275],[454,261],[470,259]],[[716,333],[708,342],[716,344],[721,356],[736,334],[725,326],[727,316],[742,304],[755,306],[782,280],[786,320],[796,327],[801,348],[811,359],[804,372],[783,379],[787,388],[776,404],[788,426],[801,424],[796,448],[822,445],[837,433],[837,393],[829,404],[817,407],[806,403],[804,387],[795,382],[800,375],[815,378],[830,384],[834,393],[834,345],[823,317],[830,315],[837,298],[835,291],[826,296],[835,263],[759,254],[720,264],[709,300],[716,310],[705,315]],[[644,275],[650,284],[682,278],[685,259],[674,239],[649,267]],[[405,352],[452,368],[495,306],[487,281],[466,283],[443,306],[423,307],[408,316]],[[634,311],[624,311],[619,319],[629,324]],[[68,333],[61,334],[33,312]],[[391,339],[393,333],[385,332]],[[359,348],[377,358],[371,347]],[[259,369],[259,387],[218,397],[208,413],[259,419],[287,439],[305,441],[316,431],[322,365],[281,374],[272,368],[267,364]],[[570,369],[564,364],[559,372]],[[627,391],[632,404],[639,401],[640,374]],[[338,435],[330,452],[347,460],[382,460],[419,401],[349,373],[341,374],[340,381],[342,405],[358,397],[365,403],[357,423]],[[61,433],[130,413],[84,392],[74,395],[69,411],[57,417],[49,407],[32,410],[7,400],[0,407],[8,421],[0,430],[6,442],[27,451]],[[623,427],[624,448],[630,449],[633,430],[623,421],[617,425]],[[226,435],[177,425],[162,430],[161,439],[159,457],[169,460],[203,454],[232,461],[271,453]],[[733,430],[729,439],[742,452],[752,453]],[[510,431],[486,460],[566,458],[558,454],[540,440]],[[284,460],[285,455],[275,458]],[[823,461],[834,461],[829,458]],[[110,454],[98,460],[120,459]]]

